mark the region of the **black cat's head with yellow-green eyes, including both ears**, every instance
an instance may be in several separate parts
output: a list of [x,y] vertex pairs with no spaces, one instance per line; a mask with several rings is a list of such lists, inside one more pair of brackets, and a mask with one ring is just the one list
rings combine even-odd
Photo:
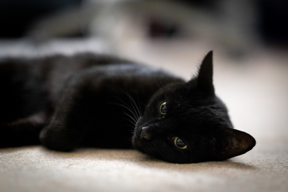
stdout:
[[134,147],[173,163],[225,160],[255,146],[255,139],[233,129],[227,109],[215,96],[212,51],[198,76],[166,85],[152,96],[136,123]]

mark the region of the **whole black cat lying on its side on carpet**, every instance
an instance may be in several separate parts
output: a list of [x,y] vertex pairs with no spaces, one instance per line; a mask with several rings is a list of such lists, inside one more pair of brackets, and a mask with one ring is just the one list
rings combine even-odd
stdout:
[[188,82],[95,54],[2,59],[0,146],[134,146],[173,163],[246,153],[255,139],[233,129],[215,96],[212,54]]

